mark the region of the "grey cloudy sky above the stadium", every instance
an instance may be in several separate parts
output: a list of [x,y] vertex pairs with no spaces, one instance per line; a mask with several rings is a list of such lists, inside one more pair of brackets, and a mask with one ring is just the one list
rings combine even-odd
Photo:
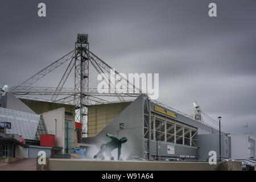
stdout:
[[[47,17],[38,17],[38,3]],[[210,2],[217,18],[208,16]],[[90,50],[123,73],[159,73],[159,101],[193,101],[232,133],[256,130],[256,1],[7,1],[0,3],[0,77],[10,86],[89,34]],[[56,80],[43,86],[56,86]],[[96,80],[96,78],[95,78]],[[1,84],[1,83],[0,83]],[[42,85],[41,85],[42,86]]]

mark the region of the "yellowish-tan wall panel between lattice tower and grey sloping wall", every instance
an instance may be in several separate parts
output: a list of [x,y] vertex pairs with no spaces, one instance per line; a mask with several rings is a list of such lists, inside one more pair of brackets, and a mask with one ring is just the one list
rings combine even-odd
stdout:
[[88,137],[95,137],[131,102],[101,104],[88,107]]

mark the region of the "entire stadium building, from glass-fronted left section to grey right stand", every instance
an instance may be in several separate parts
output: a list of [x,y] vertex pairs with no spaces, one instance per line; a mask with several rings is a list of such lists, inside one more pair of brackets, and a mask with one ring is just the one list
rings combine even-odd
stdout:
[[[133,102],[93,105],[88,107],[88,136],[82,138],[81,126],[75,123],[75,107],[51,102],[19,100],[11,93],[0,100],[0,119],[10,122],[6,134],[18,134],[26,140],[24,155],[36,156],[39,150],[47,155],[71,154],[72,148],[85,146],[87,158],[110,139],[106,133],[127,137],[122,158],[181,158],[201,160],[209,152],[219,154],[219,131],[184,114],[148,100],[141,94]],[[3,129],[2,129],[3,130]],[[40,135],[55,135],[55,146],[40,146]],[[255,142],[251,139],[251,157]],[[96,146],[88,147],[88,146]],[[42,149],[44,148],[44,149]],[[232,140],[221,132],[221,158],[229,159]],[[51,154],[49,153],[51,151]],[[117,151],[113,155],[117,156]]]

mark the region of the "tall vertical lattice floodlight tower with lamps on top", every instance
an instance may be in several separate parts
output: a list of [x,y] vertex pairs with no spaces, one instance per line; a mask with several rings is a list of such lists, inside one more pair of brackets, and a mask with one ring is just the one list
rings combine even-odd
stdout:
[[87,136],[89,88],[89,43],[88,34],[77,34],[75,43],[75,97],[76,122],[82,123],[82,135]]

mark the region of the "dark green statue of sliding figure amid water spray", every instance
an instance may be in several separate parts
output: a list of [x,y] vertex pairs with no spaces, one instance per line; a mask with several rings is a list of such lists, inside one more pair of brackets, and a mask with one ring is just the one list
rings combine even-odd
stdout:
[[[126,137],[118,138],[109,133],[107,133],[106,136],[111,138],[112,140],[110,142],[103,143],[101,145],[100,151],[98,151],[98,153],[96,155],[94,155],[93,158],[96,159],[99,156],[103,156],[102,153],[105,152],[106,156],[109,156],[110,159],[113,160],[114,158],[112,157],[111,151],[114,150],[115,148],[118,148],[118,158],[117,159],[119,160],[120,155],[121,155],[122,143],[127,142],[127,138]],[[101,158],[104,159],[104,156]]]

